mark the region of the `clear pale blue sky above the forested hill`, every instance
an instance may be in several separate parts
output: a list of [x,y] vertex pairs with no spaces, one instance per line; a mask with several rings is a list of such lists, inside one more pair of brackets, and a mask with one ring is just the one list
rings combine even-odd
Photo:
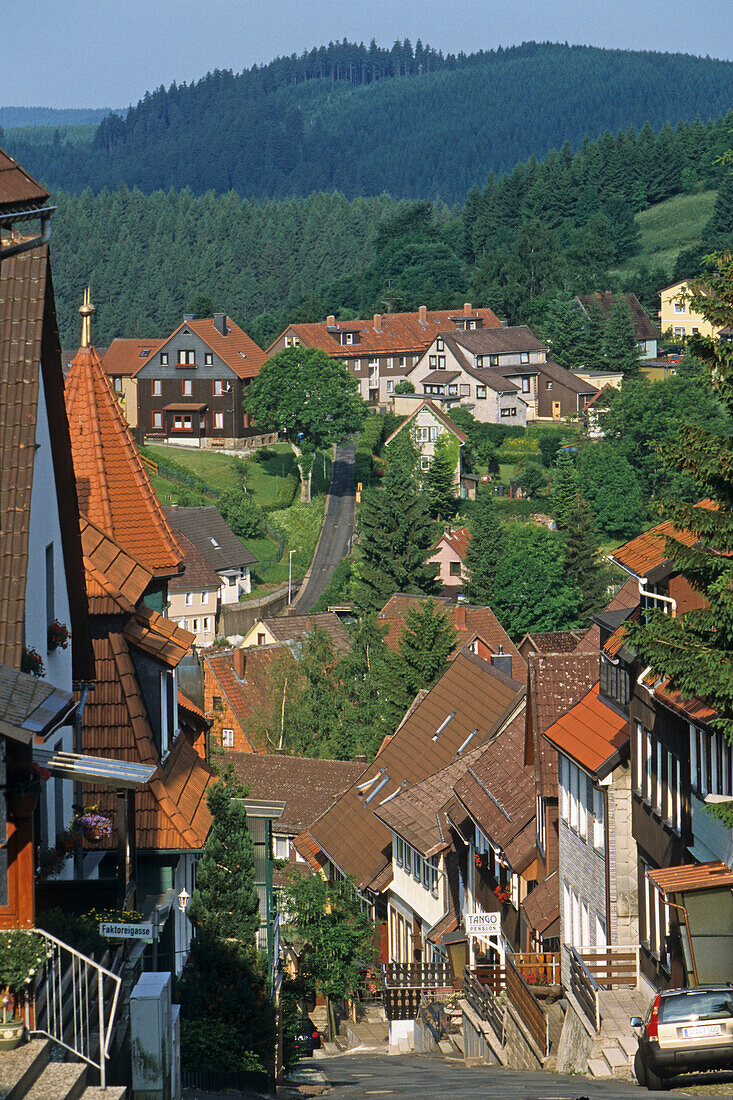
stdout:
[[1,0],[0,107],[127,107],[149,89],[343,37],[445,53],[523,41],[733,59],[733,0]]

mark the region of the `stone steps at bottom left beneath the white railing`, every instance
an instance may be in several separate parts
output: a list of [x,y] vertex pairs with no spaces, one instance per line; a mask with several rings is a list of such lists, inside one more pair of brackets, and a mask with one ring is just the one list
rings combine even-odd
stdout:
[[87,1085],[83,1062],[52,1062],[50,1040],[35,1038],[0,1058],[0,1100],[127,1100],[125,1086]]

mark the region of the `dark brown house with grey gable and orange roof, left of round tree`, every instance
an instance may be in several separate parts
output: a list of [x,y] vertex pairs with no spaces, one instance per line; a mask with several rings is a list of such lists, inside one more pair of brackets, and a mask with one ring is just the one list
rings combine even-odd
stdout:
[[165,340],[112,341],[105,370],[138,442],[259,447],[276,436],[250,428],[243,402],[265,358],[230,317],[215,314],[185,317]]

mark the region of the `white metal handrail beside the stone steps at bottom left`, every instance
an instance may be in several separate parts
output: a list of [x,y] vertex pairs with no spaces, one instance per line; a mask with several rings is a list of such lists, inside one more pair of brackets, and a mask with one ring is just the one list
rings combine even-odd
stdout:
[[[25,1001],[25,1024],[33,1035],[46,1035],[64,1049],[99,1070],[99,1082],[107,1088],[109,1045],[117,1013],[122,979],[75,947],[65,944],[44,928],[29,930],[29,935],[43,936],[50,946],[33,981],[33,1026],[30,999]],[[70,956],[64,964],[63,953]],[[105,982],[113,986],[109,1010],[105,1001]],[[96,1003],[95,1003],[96,1002]],[[99,1043],[95,1042],[92,1021],[97,1012]],[[40,1026],[43,1022],[45,1026]],[[94,1057],[98,1048],[98,1058]]]

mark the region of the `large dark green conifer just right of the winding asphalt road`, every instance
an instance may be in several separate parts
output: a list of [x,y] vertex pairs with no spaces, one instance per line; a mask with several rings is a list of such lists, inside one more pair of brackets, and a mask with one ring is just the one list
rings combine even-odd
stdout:
[[357,606],[380,610],[395,592],[436,590],[436,566],[427,564],[435,530],[424,495],[401,463],[387,463],[383,487],[364,493],[361,558],[352,582]]

